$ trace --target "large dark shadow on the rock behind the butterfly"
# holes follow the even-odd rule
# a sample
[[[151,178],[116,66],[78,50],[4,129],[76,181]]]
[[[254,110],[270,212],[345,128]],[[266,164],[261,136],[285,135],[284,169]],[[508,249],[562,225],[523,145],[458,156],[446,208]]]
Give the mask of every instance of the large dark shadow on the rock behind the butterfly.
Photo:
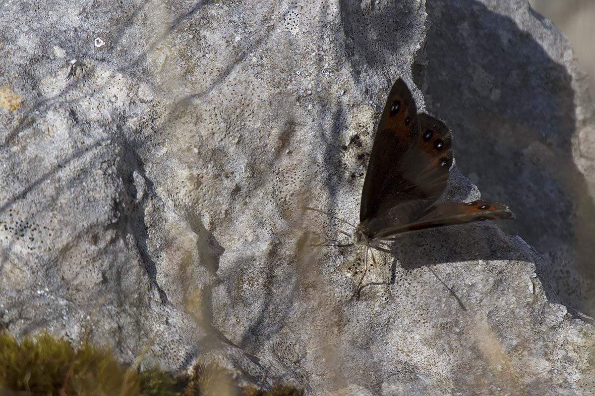
[[[474,0],[443,3],[428,2],[428,62],[417,81],[428,110],[453,130],[461,172],[516,214],[502,229],[546,256],[564,303],[592,314],[595,208],[573,161],[571,77],[510,18]]]

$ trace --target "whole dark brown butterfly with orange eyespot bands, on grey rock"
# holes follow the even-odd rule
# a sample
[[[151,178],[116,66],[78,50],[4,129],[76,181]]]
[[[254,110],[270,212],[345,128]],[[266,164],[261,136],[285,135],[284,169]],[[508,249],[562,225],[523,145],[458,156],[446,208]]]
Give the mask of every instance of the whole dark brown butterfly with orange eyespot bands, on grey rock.
[[[449,129],[439,119],[417,113],[411,91],[399,78],[374,137],[355,243],[377,248],[382,240],[416,230],[515,218],[499,202],[436,203],[446,188],[452,163]]]

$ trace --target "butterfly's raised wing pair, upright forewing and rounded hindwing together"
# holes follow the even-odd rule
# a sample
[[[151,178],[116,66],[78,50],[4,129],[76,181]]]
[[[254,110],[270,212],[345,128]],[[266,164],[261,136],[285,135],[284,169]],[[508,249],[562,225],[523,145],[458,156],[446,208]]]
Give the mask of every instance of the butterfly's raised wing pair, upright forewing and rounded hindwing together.
[[[360,221],[384,218],[397,206],[404,210],[402,222],[421,216],[446,188],[452,159],[449,129],[431,115],[417,115],[411,91],[399,78],[378,123],[364,180]],[[413,200],[427,202],[402,205]]]

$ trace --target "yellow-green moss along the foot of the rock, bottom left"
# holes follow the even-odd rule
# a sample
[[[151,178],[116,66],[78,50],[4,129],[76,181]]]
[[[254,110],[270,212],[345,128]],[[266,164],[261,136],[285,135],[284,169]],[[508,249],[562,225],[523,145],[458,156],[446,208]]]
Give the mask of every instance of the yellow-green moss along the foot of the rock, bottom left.
[[[121,396],[302,396],[292,387],[271,392],[239,388],[232,372],[215,365],[195,366],[192,374],[173,376],[156,368],[137,371],[120,365],[107,349],[42,334],[20,342],[0,331],[2,389],[43,395]]]

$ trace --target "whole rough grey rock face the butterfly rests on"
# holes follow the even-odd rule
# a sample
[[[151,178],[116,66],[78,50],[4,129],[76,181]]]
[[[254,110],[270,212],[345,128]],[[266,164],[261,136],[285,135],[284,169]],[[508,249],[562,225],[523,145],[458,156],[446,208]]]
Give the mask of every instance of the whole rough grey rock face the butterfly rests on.
[[[594,391],[573,309],[592,306],[593,109],[525,1],[83,3],[0,11],[9,331],[127,361],[155,336],[147,364],[215,359],[314,395]],[[405,237],[358,298],[363,249],[310,246],[343,225],[299,206],[356,221],[399,76],[520,237]],[[447,195],[479,192],[453,169]]]

